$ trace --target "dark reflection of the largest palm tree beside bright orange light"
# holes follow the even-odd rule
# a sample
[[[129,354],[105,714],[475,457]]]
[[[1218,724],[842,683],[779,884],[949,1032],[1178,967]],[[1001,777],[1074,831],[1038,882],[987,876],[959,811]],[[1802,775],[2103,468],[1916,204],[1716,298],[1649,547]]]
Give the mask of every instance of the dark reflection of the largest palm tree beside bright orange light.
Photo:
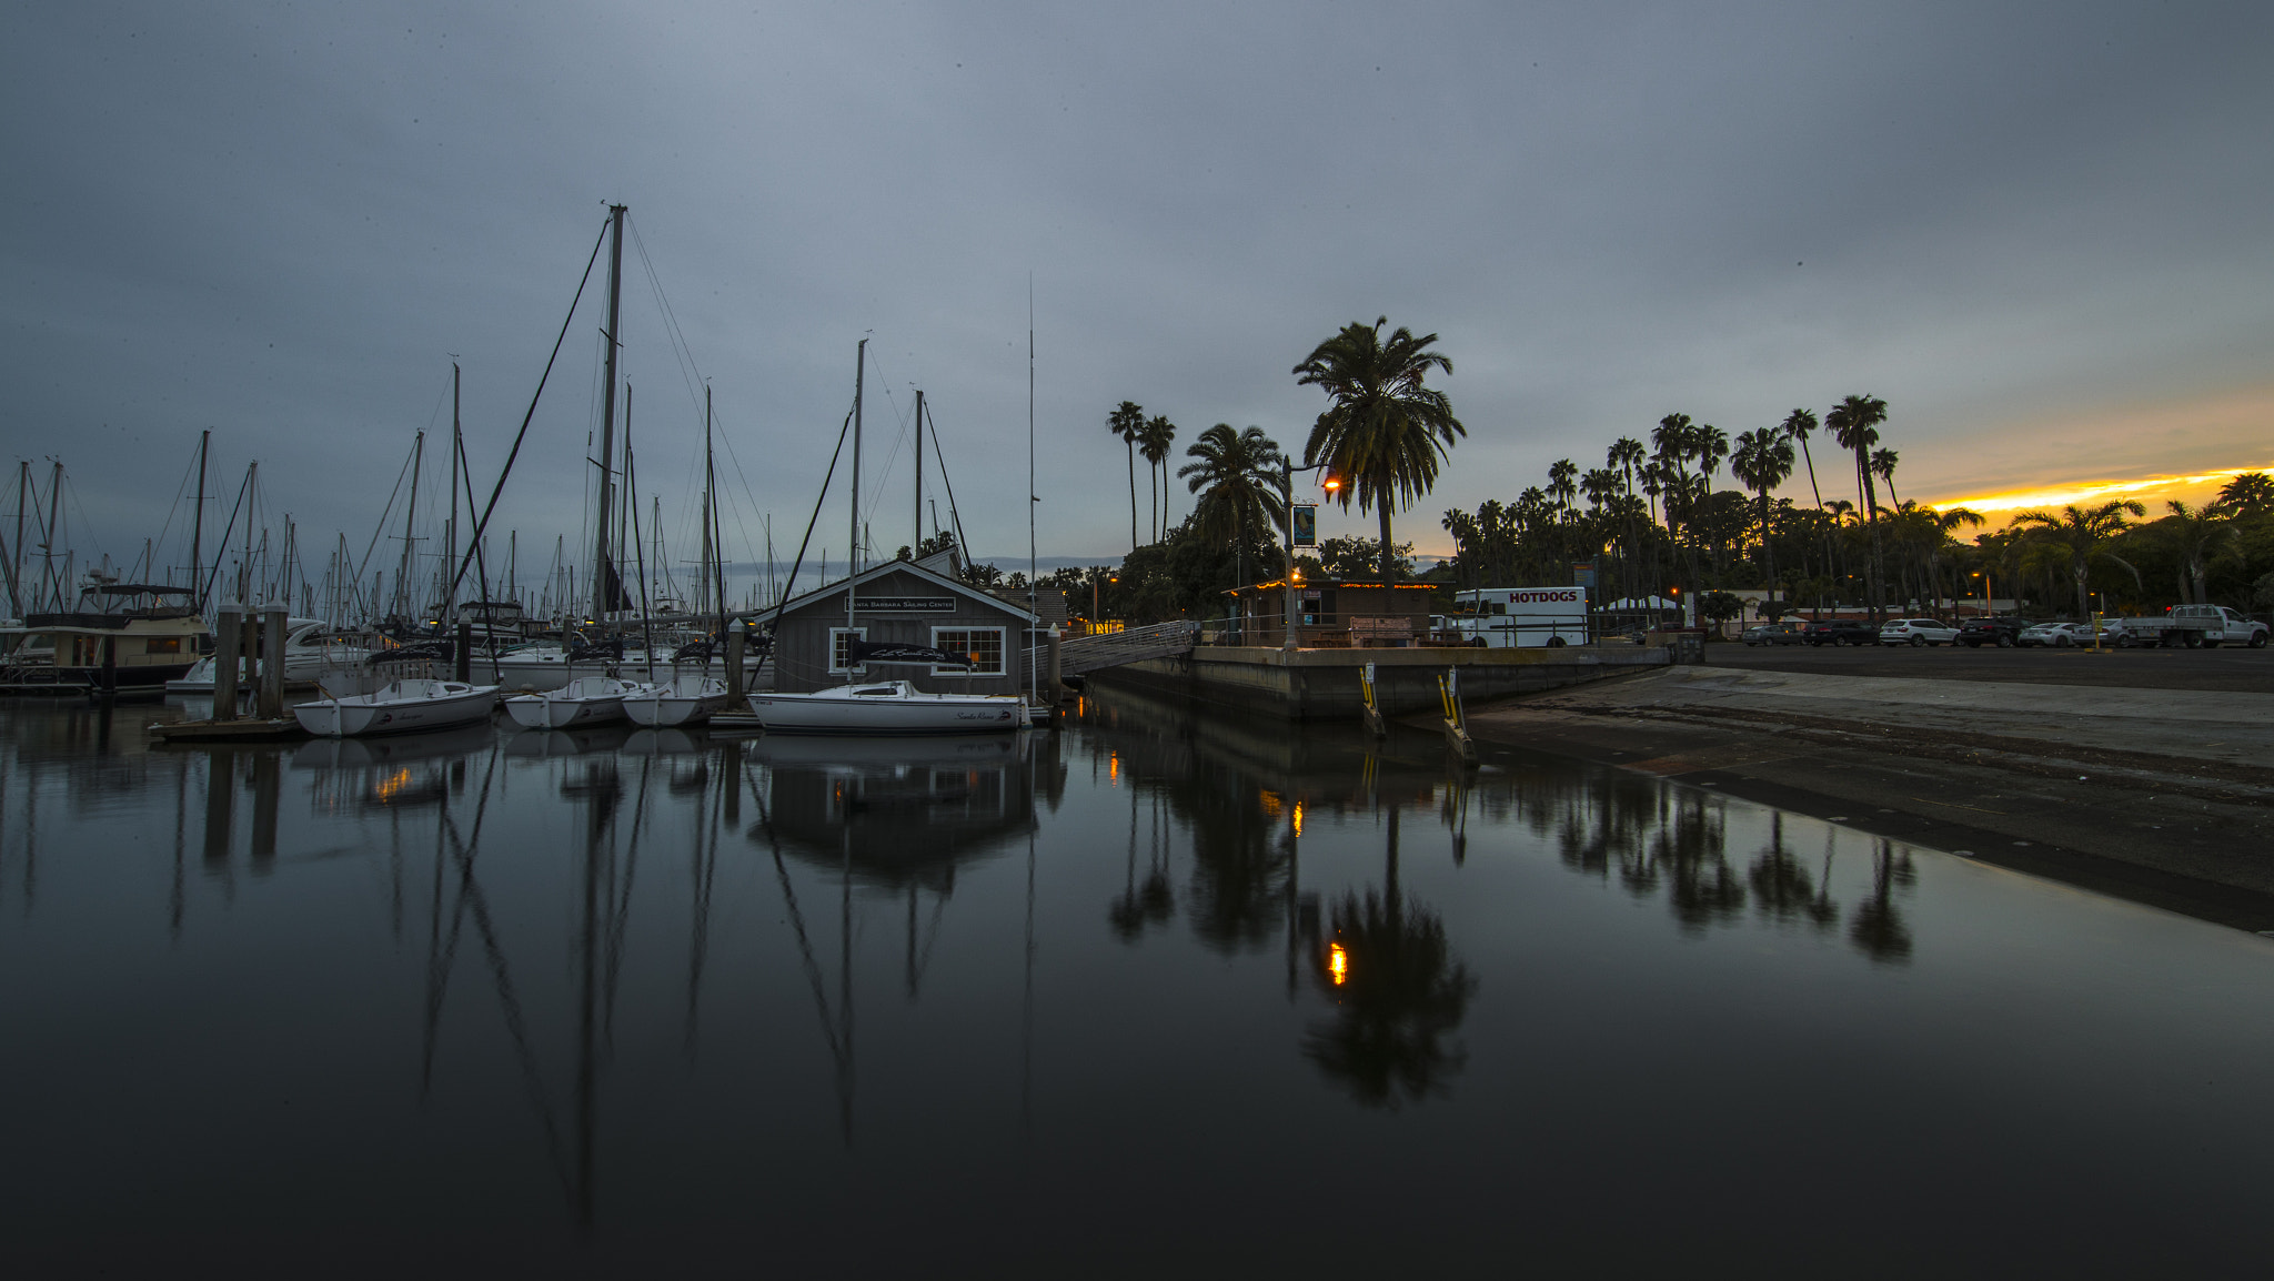
[[[1303,1056],[1371,1108],[1442,1094],[1469,1056],[1444,1038],[1460,1026],[1476,976],[1444,935],[1437,912],[1399,892],[1399,810],[1389,810],[1389,853],[1380,894],[1335,903],[1328,960],[1319,983],[1335,1019],[1303,1033]]]

